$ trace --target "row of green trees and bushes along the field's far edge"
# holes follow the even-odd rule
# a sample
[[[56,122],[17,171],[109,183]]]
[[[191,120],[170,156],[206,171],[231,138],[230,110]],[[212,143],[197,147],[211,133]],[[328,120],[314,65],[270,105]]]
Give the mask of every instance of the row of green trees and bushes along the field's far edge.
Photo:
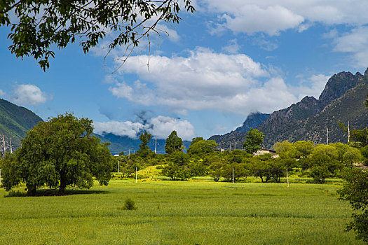
[[[364,159],[364,148],[356,148],[348,144],[334,143],[315,146],[312,141],[297,141],[294,144],[283,141],[275,144],[278,158],[271,154],[253,156],[263,141],[264,135],[258,130],[250,130],[243,144],[244,150],[216,151],[214,141],[194,138],[187,152],[183,152],[182,139],[173,131],[166,140],[166,155],[156,155],[146,146],[150,134],[141,134],[142,144],[137,153],[130,158],[120,156],[123,176],[135,172],[135,167],[146,165],[163,166],[163,175],[170,179],[188,179],[193,176],[212,176],[214,181],[224,178],[230,181],[232,169],[234,179],[245,179],[256,176],[262,182],[280,182],[286,169],[301,169],[302,173],[311,176],[315,182],[324,183],[327,177],[338,176],[344,167],[353,167],[353,163]],[[356,145],[356,144],[355,144]],[[123,169],[123,170],[122,170]],[[307,170],[308,169],[308,170]]]

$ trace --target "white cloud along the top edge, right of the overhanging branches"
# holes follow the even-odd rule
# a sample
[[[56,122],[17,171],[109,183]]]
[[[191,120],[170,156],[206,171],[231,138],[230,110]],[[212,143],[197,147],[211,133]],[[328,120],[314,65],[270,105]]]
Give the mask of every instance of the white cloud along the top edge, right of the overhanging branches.
[[[304,31],[313,22],[353,26],[368,23],[366,0],[203,0],[200,3],[203,10],[221,16],[212,27],[247,34],[264,32],[272,36],[295,28]]]

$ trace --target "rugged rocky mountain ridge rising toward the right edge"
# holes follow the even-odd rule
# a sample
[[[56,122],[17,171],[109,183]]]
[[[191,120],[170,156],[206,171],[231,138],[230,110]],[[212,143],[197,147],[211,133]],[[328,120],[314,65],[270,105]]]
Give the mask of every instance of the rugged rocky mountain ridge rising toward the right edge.
[[[265,134],[264,147],[272,148],[279,141],[313,140],[315,144],[325,143],[327,127],[329,142],[346,142],[345,132],[338,123],[360,127],[368,122],[368,110],[362,105],[368,93],[368,69],[361,73],[341,72],[327,81],[319,99],[304,97],[287,109],[274,111],[256,128]],[[229,148],[230,142],[241,147],[246,132],[230,132],[210,139],[220,147]],[[232,147],[233,147],[232,146]]]

